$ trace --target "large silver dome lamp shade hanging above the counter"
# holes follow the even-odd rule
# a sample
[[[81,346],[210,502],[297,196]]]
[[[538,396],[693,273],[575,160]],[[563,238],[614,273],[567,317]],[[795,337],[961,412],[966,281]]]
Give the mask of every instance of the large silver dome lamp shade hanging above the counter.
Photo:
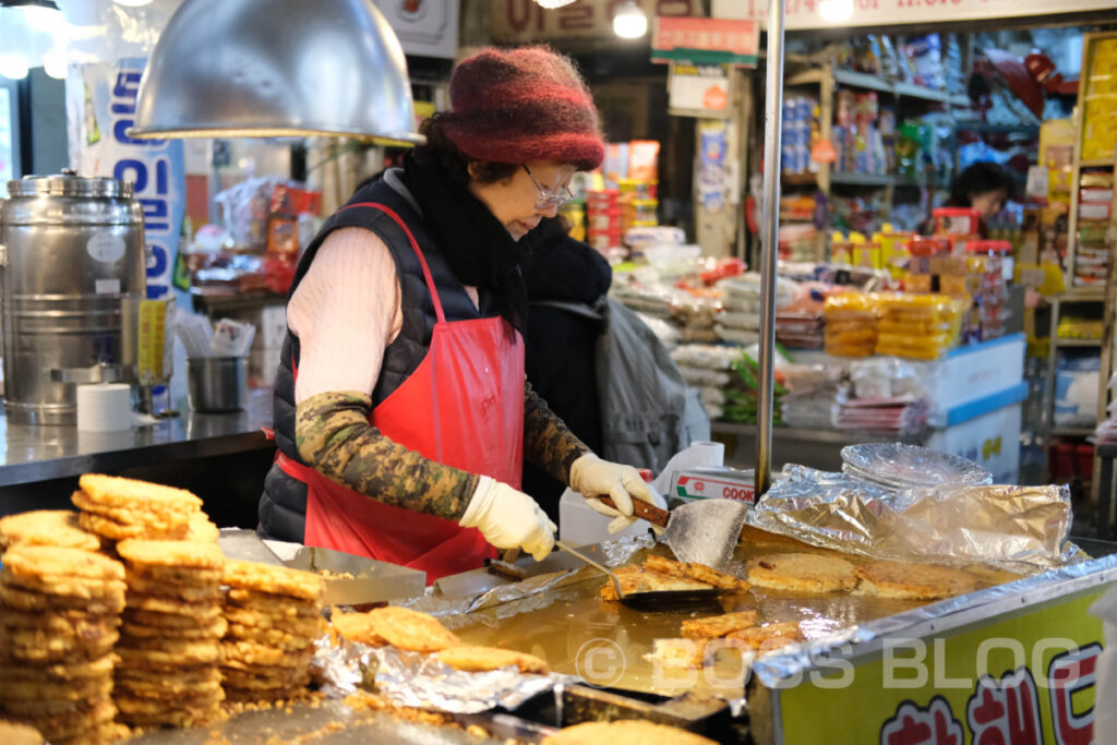
[[[407,60],[372,0],[185,0],[144,69],[137,139],[414,134]]]

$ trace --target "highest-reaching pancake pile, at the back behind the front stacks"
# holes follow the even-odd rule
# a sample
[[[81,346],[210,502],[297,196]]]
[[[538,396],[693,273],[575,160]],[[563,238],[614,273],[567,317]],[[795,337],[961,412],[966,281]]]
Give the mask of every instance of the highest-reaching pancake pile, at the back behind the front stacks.
[[[203,529],[202,500],[185,489],[118,476],[85,474],[70,497],[78,523],[109,541],[185,539]]]

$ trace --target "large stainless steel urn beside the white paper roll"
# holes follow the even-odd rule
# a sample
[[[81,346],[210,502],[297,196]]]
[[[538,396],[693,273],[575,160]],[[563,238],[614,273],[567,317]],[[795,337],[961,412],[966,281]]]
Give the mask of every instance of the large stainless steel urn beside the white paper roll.
[[[16,423],[73,424],[78,383],[135,381],[143,209],[132,184],[73,171],[9,181],[8,193],[4,410]]]

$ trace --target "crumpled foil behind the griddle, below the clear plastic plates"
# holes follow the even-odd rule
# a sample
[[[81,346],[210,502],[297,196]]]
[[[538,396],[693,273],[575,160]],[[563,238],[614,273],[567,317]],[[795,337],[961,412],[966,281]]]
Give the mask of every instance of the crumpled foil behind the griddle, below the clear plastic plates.
[[[862,556],[982,563],[1020,574],[1082,554],[1067,541],[1066,486],[937,486],[890,490],[849,474],[787,466],[746,522]]]

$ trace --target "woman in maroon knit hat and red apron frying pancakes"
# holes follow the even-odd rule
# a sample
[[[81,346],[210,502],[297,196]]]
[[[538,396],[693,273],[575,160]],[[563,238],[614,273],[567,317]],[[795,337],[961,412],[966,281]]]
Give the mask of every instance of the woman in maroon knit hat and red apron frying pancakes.
[[[497,548],[536,560],[555,525],[519,491],[522,458],[620,528],[651,500],[526,384],[519,241],[604,156],[592,97],[565,57],[486,48],[459,63],[427,143],[357,190],[304,254],[275,393],[279,448],[265,537],[427,572]],[[594,497],[608,495],[612,509]]]

